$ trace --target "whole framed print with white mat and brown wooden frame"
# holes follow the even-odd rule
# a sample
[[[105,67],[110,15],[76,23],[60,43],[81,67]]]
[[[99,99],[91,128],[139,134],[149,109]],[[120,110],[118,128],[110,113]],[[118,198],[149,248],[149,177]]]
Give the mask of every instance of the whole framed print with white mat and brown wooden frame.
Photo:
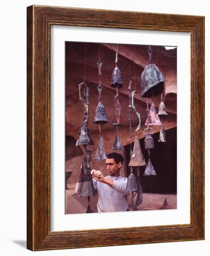
[[[28,249],[204,239],[203,31],[27,8]]]

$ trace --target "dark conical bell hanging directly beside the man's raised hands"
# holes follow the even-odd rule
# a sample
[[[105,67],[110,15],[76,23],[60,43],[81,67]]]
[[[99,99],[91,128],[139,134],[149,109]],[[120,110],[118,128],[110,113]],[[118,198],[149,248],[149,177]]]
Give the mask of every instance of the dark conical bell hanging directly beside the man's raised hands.
[[[82,187],[81,187],[80,196],[95,195],[95,191],[92,183],[91,169],[88,166],[88,163],[85,157],[82,163],[81,175],[82,175]]]

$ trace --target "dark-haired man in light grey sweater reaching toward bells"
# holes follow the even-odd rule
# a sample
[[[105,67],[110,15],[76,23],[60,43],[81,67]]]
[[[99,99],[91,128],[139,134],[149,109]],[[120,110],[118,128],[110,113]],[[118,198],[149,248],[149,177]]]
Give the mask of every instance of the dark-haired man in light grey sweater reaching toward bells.
[[[101,171],[92,169],[92,182],[94,189],[98,192],[98,212],[117,212],[128,209],[126,190],[127,178],[119,175],[120,168],[124,162],[123,156],[118,153],[111,153],[106,158],[108,176]],[[80,189],[77,183],[75,193]]]

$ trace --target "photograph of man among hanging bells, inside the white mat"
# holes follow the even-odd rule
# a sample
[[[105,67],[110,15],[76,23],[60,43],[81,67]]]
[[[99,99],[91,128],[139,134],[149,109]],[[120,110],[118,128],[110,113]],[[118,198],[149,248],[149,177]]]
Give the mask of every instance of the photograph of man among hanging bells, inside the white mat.
[[[66,41],[65,135],[66,214],[177,209],[177,46]]]

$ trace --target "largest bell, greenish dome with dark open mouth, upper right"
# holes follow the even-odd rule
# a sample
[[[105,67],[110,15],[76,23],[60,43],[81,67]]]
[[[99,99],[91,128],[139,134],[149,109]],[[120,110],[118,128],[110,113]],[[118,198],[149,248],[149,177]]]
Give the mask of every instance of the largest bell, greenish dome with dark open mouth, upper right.
[[[141,96],[151,98],[164,91],[164,77],[155,64],[148,64],[141,74]]]

